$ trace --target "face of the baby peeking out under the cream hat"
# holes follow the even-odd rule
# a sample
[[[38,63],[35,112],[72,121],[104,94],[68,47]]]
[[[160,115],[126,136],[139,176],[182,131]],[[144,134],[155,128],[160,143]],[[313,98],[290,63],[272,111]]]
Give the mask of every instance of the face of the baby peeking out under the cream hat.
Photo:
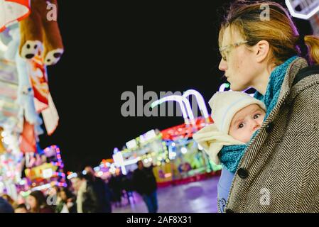
[[[248,143],[252,134],[264,121],[265,111],[259,105],[252,104],[238,111],[232,118],[229,135],[243,143]]]

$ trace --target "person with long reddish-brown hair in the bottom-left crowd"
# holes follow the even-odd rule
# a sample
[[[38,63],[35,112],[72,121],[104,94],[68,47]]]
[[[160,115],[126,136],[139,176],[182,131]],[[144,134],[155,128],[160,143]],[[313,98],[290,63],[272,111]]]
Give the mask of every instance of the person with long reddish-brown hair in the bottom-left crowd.
[[[31,192],[27,201],[31,213],[54,213],[50,206],[46,204],[45,196],[41,191]]]

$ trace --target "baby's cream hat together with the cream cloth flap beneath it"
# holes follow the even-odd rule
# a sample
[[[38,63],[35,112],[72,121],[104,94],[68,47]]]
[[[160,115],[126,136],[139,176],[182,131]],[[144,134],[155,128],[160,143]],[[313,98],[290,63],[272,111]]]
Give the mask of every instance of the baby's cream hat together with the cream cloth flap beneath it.
[[[234,115],[246,106],[257,104],[266,111],[262,101],[244,92],[217,92],[209,101],[214,123],[205,126],[193,135],[194,140],[204,148],[212,162],[220,164],[218,153],[225,145],[244,145],[228,135]]]

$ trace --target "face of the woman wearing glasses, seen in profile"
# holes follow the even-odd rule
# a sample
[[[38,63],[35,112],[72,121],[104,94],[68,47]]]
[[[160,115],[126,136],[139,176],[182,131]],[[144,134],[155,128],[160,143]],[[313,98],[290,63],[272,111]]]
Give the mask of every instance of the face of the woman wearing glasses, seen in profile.
[[[246,40],[234,29],[230,33],[230,29],[227,27],[220,48],[242,41]],[[227,48],[222,54],[225,55],[226,61],[223,59],[220,61],[219,69],[225,72],[225,77],[230,83],[230,89],[240,92],[251,87],[256,75],[254,51],[249,51],[247,46],[242,44]]]

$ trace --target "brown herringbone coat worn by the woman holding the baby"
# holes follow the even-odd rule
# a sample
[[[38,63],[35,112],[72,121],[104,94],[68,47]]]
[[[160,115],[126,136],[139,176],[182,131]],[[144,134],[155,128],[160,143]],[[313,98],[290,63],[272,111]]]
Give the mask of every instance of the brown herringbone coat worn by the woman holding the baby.
[[[229,192],[229,212],[319,212],[319,74],[293,79],[291,63],[278,102],[249,143]]]

